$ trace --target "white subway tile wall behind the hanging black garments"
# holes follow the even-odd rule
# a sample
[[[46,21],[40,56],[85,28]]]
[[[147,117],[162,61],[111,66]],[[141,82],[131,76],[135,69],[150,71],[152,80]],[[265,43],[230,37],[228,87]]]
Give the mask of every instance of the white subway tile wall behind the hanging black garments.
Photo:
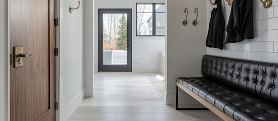
[[[222,0],[222,8],[227,24],[231,6]],[[213,6],[207,1],[207,27],[212,9]],[[259,0],[254,0],[253,14],[254,39],[225,44],[222,51],[207,47],[207,54],[278,64],[278,1],[272,1],[271,8],[265,9]]]

